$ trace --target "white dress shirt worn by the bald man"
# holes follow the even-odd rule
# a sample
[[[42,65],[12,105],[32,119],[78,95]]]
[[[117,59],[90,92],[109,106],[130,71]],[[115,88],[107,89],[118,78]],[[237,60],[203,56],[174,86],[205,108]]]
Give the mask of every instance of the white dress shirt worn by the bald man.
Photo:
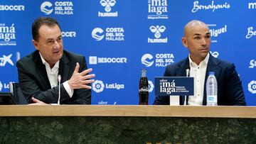
[[[190,77],[194,77],[194,96],[188,96],[188,105],[203,105],[203,87],[206,78],[206,69],[209,60],[209,53],[205,60],[196,65],[188,55],[189,65],[191,70],[189,72]]]

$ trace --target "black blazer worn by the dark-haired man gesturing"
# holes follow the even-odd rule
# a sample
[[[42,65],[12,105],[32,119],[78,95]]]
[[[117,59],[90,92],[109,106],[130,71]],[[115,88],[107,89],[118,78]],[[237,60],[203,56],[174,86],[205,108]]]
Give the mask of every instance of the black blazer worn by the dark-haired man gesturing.
[[[72,76],[76,62],[80,64],[79,72],[87,69],[84,56],[63,51],[58,72],[61,75],[60,104],[91,104],[90,89],[74,89],[74,94],[70,98],[62,84]],[[47,104],[57,103],[58,86],[51,89],[46,66],[43,65],[38,50],[18,60],[16,67],[18,68],[18,81],[28,103],[32,103],[32,97]]]

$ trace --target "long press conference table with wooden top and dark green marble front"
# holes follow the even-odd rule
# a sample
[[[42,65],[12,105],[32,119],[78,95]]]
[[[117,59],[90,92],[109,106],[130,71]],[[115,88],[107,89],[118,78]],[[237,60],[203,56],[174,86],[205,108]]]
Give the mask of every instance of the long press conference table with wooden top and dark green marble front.
[[[0,106],[0,143],[256,143],[255,106]]]

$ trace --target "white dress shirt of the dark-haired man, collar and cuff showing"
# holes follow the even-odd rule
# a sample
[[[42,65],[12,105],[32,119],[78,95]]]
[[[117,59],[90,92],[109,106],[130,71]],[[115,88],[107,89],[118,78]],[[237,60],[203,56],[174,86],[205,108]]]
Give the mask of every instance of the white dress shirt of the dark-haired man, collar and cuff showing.
[[[58,68],[60,65],[60,60],[58,60],[58,62],[55,63],[55,65],[53,66],[52,69],[50,69],[50,65],[48,64],[48,62],[46,62],[46,60],[43,59],[41,53],[39,52],[41,60],[43,62],[43,65],[46,66],[46,72],[47,72],[47,77],[49,79],[50,82],[50,87],[53,89],[53,87],[58,86]],[[73,96],[74,90],[70,88],[68,81],[63,82],[63,86],[66,90],[66,92],[68,92],[68,95],[70,97]]]

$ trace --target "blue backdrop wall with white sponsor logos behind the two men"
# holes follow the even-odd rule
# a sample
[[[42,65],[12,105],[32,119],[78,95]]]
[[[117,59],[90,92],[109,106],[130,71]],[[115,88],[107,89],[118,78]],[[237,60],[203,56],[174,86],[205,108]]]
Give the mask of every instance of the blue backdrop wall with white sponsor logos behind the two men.
[[[256,106],[256,1],[3,1],[0,4],[0,92],[18,82],[16,62],[35,48],[31,23],[56,18],[63,45],[85,55],[93,68],[92,104],[138,104],[139,78],[146,69],[149,104],[154,77],[183,60],[183,27],[192,19],[210,28],[210,54],[233,62],[248,105]],[[33,14],[31,14],[33,13]]]

